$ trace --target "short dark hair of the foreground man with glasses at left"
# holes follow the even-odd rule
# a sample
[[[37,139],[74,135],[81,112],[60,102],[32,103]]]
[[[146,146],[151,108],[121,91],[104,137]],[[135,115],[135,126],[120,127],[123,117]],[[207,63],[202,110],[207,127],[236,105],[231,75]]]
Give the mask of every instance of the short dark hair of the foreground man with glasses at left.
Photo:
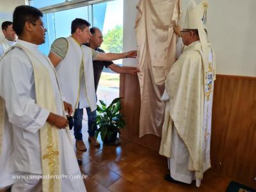
[[[13,12],[13,30],[17,35],[21,35],[25,22],[36,22],[43,13],[33,6],[17,6]]]

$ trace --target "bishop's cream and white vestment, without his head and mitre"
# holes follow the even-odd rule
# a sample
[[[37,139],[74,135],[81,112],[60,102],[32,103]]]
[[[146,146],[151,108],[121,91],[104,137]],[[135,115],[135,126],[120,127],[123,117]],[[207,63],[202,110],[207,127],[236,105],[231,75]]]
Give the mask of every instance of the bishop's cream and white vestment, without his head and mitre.
[[[168,157],[173,179],[200,186],[205,170],[211,167],[211,111],[215,80],[215,57],[208,45],[204,61],[200,42],[184,48],[168,74],[161,147]]]

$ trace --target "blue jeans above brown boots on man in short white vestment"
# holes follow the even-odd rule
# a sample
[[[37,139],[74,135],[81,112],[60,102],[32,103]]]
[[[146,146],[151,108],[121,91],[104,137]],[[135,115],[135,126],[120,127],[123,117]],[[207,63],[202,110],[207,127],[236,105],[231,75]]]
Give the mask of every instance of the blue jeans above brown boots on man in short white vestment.
[[[91,112],[90,108],[86,108],[88,115],[88,134],[89,136],[95,136],[95,131],[97,130],[96,122],[96,110]],[[83,121],[83,109],[76,109],[74,114],[74,136],[76,140],[83,140],[82,134],[82,121]]]

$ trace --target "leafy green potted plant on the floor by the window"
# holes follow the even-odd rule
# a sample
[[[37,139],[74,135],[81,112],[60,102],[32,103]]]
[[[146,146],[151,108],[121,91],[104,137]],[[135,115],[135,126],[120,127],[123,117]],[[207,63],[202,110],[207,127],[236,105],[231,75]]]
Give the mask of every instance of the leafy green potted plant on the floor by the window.
[[[120,143],[119,138],[117,138],[117,133],[121,134],[120,128],[125,126],[121,109],[121,98],[118,97],[114,99],[109,106],[99,100],[100,105],[97,105],[97,120],[98,129],[95,132],[95,138],[99,136],[104,144],[106,145],[116,145]]]

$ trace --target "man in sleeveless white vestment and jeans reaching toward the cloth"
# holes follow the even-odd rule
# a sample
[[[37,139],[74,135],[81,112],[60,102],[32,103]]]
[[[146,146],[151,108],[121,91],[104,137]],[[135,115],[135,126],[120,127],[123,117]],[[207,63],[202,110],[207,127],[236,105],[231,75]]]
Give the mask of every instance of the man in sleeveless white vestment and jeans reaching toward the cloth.
[[[71,36],[58,38],[51,45],[49,58],[60,79],[60,88],[67,102],[74,109],[74,136],[78,150],[86,150],[81,134],[83,108],[96,109],[96,95],[93,76],[93,60],[112,61],[122,58],[136,58],[136,51],[123,53],[98,52],[86,45],[90,40],[90,23],[84,19],[74,19]],[[89,141],[99,145],[93,135]]]

